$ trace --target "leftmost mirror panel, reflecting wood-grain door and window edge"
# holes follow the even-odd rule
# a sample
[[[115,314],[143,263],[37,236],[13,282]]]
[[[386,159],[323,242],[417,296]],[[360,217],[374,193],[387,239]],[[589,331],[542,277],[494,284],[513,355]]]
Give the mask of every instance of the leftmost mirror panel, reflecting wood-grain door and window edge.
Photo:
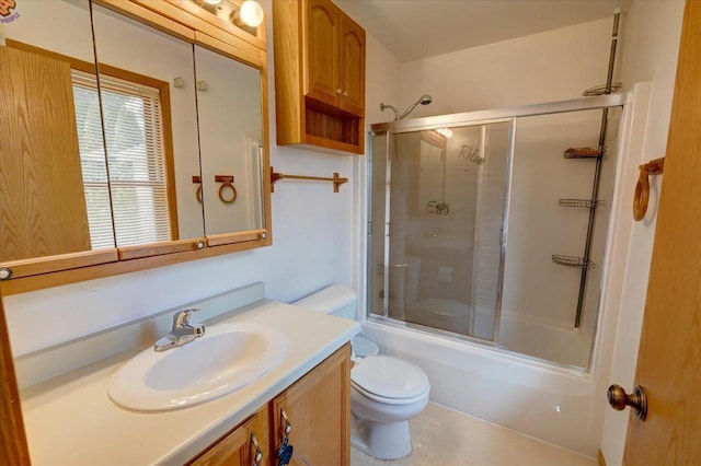
[[[0,261],[114,248],[88,1],[18,2],[0,44]]]

